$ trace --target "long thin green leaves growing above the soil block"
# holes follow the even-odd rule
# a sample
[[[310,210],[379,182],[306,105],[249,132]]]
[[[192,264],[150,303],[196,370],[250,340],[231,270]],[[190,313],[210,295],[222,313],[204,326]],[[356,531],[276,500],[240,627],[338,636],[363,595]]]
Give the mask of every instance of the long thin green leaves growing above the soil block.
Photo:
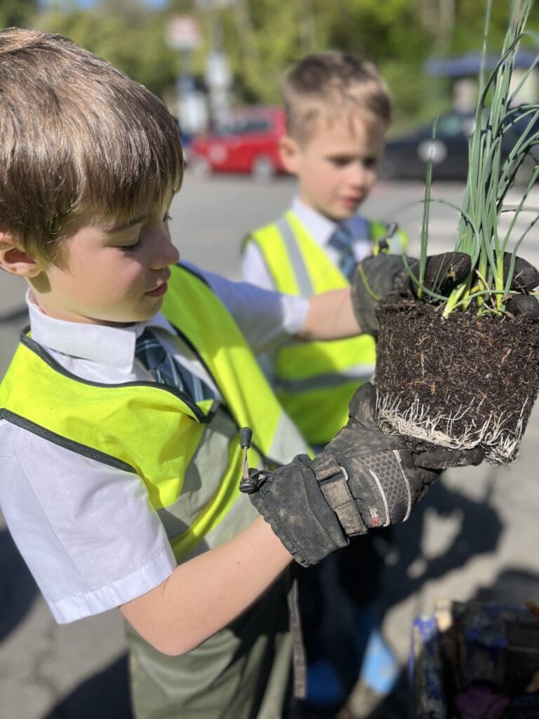
[[[525,206],[526,199],[539,176],[537,160],[531,154],[534,145],[539,154],[539,104],[515,106],[515,98],[530,73],[538,65],[539,57],[523,76],[516,88],[511,88],[515,57],[520,40],[525,35],[525,23],[528,19],[533,0],[517,0],[513,6],[510,25],[507,29],[502,55],[496,68],[484,79],[484,66],[487,58],[487,35],[492,0],[487,3],[485,32],[482,50],[482,70],[479,77],[479,99],[476,107],[474,132],[469,139],[469,168],[464,199],[460,209],[461,219],[457,232],[455,250],[467,252],[471,256],[471,273],[459,285],[451,296],[444,298],[425,288],[423,279],[428,246],[428,223],[432,184],[432,165],[429,163],[425,180],[425,198],[423,226],[420,247],[420,273],[418,296],[426,301],[443,303],[443,316],[456,309],[484,313],[501,314],[505,310],[505,301],[514,293],[510,290],[513,279],[517,250],[530,229],[537,223],[539,213],[533,211],[533,219],[525,232],[512,245],[509,273],[504,277],[503,261],[509,252],[509,243],[515,234],[517,218],[522,212],[530,211]],[[515,134],[518,124],[519,134]],[[436,133],[436,127],[433,134]],[[512,135],[517,142],[510,154],[503,157],[502,142]],[[535,165],[527,184],[521,187],[522,196],[517,206],[508,210],[504,207],[505,198],[515,185],[517,175],[524,169],[525,162],[533,160]],[[527,166],[526,165],[526,166]],[[512,219],[505,234],[500,235],[499,219],[502,212],[510,211]]]

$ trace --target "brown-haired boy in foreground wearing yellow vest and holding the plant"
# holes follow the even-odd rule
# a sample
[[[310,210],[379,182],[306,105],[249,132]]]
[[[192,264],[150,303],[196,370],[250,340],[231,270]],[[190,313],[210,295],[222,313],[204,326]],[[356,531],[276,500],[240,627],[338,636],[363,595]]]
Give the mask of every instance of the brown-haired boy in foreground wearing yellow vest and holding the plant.
[[[59,623],[120,608],[137,719],[285,716],[292,560],[402,521],[481,453],[413,457],[366,385],[326,452],[292,459],[253,348],[361,331],[349,292],[178,264],[175,120],[70,40],[0,32],[0,103],[0,267],[31,328],[0,385],[9,530]]]

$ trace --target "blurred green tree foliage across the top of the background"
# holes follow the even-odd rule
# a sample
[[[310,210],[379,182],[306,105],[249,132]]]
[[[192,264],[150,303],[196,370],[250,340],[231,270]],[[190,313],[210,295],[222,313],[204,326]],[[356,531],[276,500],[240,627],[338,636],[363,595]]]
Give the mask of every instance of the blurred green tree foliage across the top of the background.
[[[190,14],[202,35],[192,58],[196,73],[203,78],[208,52],[224,49],[238,103],[280,102],[282,78],[295,60],[338,47],[379,65],[401,121],[432,116],[449,102],[448,83],[425,78],[423,64],[432,55],[479,50],[486,7],[485,0],[169,0],[155,9],[143,0],[96,0],[80,9],[63,0],[60,11],[61,1],[40,15],[39,27],[73,38],[161,96],[180,70],[165,23]],[[2,0],[9,17],[29,6],[34,1]],[[509,14],[510,0],[494,3],[490,47],[501,47]],[[538,6],[528,27],[539,29]]]

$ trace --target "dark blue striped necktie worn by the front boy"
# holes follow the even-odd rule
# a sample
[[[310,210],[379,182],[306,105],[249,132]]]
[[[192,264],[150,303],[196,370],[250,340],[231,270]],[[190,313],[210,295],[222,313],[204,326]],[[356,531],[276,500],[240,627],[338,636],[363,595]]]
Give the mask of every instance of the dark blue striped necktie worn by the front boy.
[[[177,362],[150,329],[144,329],[135,346],[135,357],[142,362],[157,383],[188,395],[195,402],[215,399],[216,394],[199,377]]]

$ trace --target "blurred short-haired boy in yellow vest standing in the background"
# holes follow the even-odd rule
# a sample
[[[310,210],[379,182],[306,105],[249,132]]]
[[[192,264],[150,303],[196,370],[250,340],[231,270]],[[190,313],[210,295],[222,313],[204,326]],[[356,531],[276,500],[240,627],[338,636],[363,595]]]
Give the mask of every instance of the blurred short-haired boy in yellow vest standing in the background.
[[[346,52],[307,55],[284,87],[285,169],[298,195],[277,222],[244,242],[242,275],[259,287],[313,296],[349,285],[355,265],[378,251],[387,225],[357,214],[377,180],[391,101],[372,63]],[[400,252],[397,233],[390,249]],[[288,343],[272,358],[277,395],[315,447],[346,421],[357,386],[374,371],[374,341],[361,336],[320,344]]]

